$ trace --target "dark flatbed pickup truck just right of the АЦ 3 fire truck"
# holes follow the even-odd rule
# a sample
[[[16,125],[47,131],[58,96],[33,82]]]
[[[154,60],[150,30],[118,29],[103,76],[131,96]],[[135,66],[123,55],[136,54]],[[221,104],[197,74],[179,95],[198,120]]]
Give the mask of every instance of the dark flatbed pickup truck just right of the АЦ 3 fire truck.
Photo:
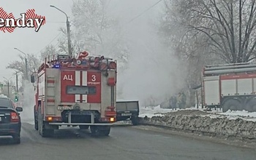
[[[138,125],[139,101],[116,102],[116,121],[131,120],[133,125]]]

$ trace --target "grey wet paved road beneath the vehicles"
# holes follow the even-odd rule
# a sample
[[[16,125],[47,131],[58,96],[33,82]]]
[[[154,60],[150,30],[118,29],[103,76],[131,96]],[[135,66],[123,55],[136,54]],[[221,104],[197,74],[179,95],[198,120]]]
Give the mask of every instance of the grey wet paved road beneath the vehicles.
[[[230,145],[153,132],[150,127],[113,127],[110,137],[91,137],[89,131],[62,129],[42,138],[23,123],[20,145],[0,139],[0,160],[131,160],[131,159],[256,159],[255,151]]]

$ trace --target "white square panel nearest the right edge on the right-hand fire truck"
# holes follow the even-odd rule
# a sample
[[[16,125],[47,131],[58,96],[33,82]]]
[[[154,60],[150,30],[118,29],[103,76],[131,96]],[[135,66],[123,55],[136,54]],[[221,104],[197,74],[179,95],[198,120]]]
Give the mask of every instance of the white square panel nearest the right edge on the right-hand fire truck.
[[[252,79],[238,79],[237,85],[239,95],[252,94]]]

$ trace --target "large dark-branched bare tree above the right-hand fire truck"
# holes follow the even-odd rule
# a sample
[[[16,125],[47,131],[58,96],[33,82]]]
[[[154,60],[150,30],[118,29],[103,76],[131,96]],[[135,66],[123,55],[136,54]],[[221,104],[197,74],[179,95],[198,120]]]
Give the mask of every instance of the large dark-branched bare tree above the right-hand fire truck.
[[[184,0],[174,1],[178,20],[188,32],[203,33],[211,52],[226,63],[255,59],[255,0]]]

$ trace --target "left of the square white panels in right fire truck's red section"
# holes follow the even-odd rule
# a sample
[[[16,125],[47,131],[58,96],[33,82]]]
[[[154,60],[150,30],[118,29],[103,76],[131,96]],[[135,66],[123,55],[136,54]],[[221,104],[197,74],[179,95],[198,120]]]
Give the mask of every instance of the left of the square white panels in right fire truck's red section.
[[[236,79],[221,80],[222,95],[235,95],[236,94]]]

